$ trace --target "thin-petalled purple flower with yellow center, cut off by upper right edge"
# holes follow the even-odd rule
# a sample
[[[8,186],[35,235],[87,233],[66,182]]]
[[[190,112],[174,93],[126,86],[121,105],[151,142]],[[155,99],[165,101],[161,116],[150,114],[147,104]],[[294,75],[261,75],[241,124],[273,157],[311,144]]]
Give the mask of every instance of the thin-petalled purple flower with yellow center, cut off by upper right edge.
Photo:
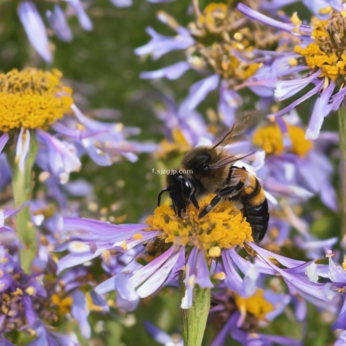
[[[287,73],[287,69],[281,70],[281,77],[290,78],[281,79],[278,74],[273,75],[272,73],[269,75],[270,80],[271,82],[273,79],[277,81],[275,98],[279,101],[296,95],[309,84],[312,84],[313,88],[285,108],[270,114],[269,117],[280,117],[311,96],[318,95],[305,135],[307,139],[318,138],[324,118],[331,111],[339,108],[346,93],[343,88],[345,70],[342,12],[333,12],[329,8],[327,21],[312,18],[312,25],[308,26],[302,24],[297,15],[291,18],[292,23],[283,23],[243,4],[239,4],[237,9],[254,20],[292,33],[293,43],[296,42],[294,38],[300,37],[299,45],[292,47],[290,51],[280,53],[275,59],[283,59],[292,67],[301,68],[303,73],[291,74]],[[267,54],[270,55],[271,52],[268,51]],[[276,69],[280,71],[277,64]],[[266,83],[267,79],[262,80],[262,83]]]

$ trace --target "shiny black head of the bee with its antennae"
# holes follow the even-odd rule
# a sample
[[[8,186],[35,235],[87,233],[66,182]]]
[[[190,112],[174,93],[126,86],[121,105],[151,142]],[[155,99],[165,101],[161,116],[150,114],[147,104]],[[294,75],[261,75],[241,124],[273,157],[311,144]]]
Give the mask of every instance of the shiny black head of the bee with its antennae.
[[[173,208],[179,217],[181,217],[182,211],[185,211],[186,206],[191,202],[197,209],[199,209],[195,197],[196,187],[193,184],[193,180],[187,175],[171,173],[167,176],[167,187],[158,195],[158,206],[160,206],[162,193],[166,191],[168,191],[169,197],[173,203]]]

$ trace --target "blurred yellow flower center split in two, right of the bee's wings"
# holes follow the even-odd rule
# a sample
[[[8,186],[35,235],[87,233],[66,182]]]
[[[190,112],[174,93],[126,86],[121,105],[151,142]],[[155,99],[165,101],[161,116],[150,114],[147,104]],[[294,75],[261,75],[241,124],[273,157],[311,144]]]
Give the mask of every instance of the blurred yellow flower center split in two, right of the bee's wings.
[[[286,124],[288,137],[291,141],[289,152],[301,157],[307,155],[312,149],[312,142],[305,139],[305,131],[299,127]],[[280,155],[284,151],[282,133],[277,123],[260,127],[253,134],[252,141],[255,146],[261,147],[267,154]]]

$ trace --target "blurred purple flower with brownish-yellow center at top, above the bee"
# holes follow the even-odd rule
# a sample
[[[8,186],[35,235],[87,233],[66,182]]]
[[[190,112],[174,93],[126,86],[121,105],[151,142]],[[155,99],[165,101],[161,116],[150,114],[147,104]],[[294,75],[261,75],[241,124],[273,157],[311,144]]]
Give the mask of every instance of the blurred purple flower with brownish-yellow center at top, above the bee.
[[[186,61],[156,71],[143,72],[141,77],[177,79],[189,69],[199,72],[203,78],[190,86],[179,113],[191,112],[210,92],[218,89],[220,119],[230,126],[236,110],[242,104],[235,86],[246,83],[250,77],[257,78],[256,73],[263,66],[263,61],[253,59],[253,47],[263,49],[275,45],[278,37],[268,30],[261,32],[258,26],[249,30],[251,23],[230,5],[211,3],[201,12],[197,4],[194,2],[196,19],[188,28],[160,11],[158,19],[177,35],[163,36],[150,27],[147,32],[152,36],[152,40],[135,50],[138,55],[150,54],[154,60],[170,51],[184,50]],[[253,91],[261,96],[263,94],[263,90]],[[273,89],[268,90],[268,93],[272,96]]]

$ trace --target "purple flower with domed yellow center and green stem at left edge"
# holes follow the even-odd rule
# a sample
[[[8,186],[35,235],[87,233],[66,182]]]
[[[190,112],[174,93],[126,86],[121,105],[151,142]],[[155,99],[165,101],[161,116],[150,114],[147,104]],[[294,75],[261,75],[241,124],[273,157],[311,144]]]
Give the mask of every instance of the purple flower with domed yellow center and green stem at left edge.
[[[156,148],[153,143],[126,139],[127,135],[137,134],[137,128],[85,117],[73,103],[72,90],[61,78],[60,71],[35,68],[0,75],[0,154],[5,150],[8,157],[13,157],[11,151],[16,148],[11,166],[17,209],[31,199],[31,171],[35,163],[42,169],[39,180],[48,185],[48,194],[66,212],[69,206],[60,185],[68,183],[71,172],[80,170],[81,155],[88,154],[94,162],[106,166],[121,157],[133,162],[136,153]],[[36,229],[30,218],[28,207],[16,216],[24,271],[30,271],[37,251]]]

